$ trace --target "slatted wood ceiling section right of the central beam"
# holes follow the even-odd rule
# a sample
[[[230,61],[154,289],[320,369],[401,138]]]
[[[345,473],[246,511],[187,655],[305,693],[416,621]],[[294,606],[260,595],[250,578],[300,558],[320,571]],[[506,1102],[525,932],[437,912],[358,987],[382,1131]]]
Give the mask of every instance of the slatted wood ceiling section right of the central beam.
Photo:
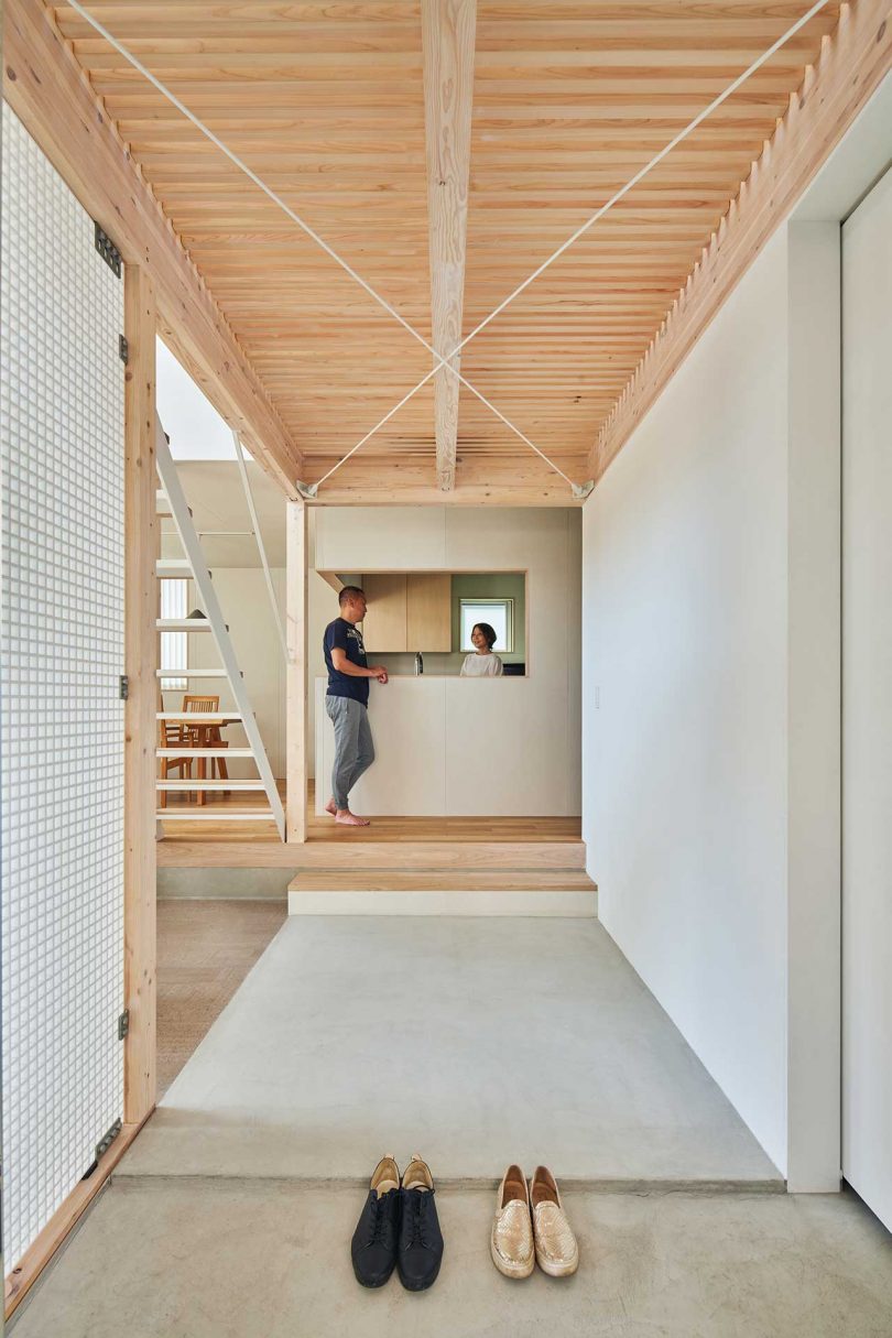
[[[480,0],[465,333],[806,8]],[[587,476],[592,425],[773,132],[834,8],[467,347],[465,376],[572,478]],[[459,421],[465,459],[504,443],[467,391]]]

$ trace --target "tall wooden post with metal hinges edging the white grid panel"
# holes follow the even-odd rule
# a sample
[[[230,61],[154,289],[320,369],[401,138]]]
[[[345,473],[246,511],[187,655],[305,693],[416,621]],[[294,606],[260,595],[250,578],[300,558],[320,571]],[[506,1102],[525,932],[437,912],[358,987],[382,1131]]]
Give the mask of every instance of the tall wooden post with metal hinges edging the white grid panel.
[[[158,522],[155,516],[155,296],[139,265],[124,269],[124,1124],[155,1105],[155,744]]]

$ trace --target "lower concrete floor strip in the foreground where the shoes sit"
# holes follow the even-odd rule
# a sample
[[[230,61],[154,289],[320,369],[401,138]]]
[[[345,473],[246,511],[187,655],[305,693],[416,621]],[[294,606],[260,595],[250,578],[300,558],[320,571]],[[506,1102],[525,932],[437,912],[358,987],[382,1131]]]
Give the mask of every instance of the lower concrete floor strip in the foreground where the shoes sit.
[[[530,1168],[528,1168],[530,1169]],[[353,1279],[361,1192],[115,1179],[15,1338],[889,1338],[892,1246],[855,1196],[564,1196],[579,1272],[510,1282],[493,1196],[444,1189],[435,1287]]]

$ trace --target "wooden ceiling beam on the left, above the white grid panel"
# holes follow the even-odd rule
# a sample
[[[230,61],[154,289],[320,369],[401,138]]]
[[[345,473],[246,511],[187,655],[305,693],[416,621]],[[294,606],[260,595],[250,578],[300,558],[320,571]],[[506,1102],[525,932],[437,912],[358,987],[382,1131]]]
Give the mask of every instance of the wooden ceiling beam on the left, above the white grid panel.
[[[296,498],[300,452],[40,0],[5,0],[3,91],[123,260],[151,274],[164,343],[258,463]]]

